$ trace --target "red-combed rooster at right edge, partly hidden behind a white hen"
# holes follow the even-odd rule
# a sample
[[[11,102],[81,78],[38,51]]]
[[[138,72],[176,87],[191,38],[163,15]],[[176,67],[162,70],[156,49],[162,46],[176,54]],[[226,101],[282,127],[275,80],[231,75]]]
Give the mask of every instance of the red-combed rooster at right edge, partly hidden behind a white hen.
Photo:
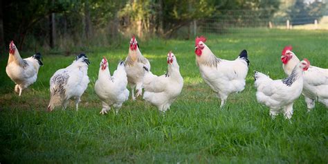
[[[286,75],[291,75],[293,67],[300,62],[291,50],[291,46],[286,46],[282,51],[282,69]],[[310,66],[307,71],[304,71],[302,94],[307,103],[308,111],[314,108],[316,100],[328,108],[328,69]]]

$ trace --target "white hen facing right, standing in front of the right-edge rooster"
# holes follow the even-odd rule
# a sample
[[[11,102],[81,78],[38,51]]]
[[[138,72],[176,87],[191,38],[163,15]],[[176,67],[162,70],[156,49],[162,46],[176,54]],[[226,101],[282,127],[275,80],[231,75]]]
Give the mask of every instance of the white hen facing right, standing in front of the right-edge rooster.
[[[283,112],[284,116],[290,119],[293,116],[293,102],[302,93],[303,72],[309,69],[309,66],[309,60],[302,60],[294,67],[291,75],[284,80],[272,80],[267,75],[255,71],[257,102],[269,107],[273,118]]]

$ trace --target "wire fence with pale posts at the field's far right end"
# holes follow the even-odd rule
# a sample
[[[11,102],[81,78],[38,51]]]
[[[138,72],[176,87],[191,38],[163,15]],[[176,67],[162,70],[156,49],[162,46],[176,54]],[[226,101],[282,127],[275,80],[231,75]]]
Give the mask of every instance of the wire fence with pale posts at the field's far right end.
[[[313,17],[310,15],[275,15],[271,10],[224,10],[222,15],[194,21],[194,33],[237,33],[247,28],[279,28],[328,30],[328,16]],[[256,33],[256,31],[255,31]]]

